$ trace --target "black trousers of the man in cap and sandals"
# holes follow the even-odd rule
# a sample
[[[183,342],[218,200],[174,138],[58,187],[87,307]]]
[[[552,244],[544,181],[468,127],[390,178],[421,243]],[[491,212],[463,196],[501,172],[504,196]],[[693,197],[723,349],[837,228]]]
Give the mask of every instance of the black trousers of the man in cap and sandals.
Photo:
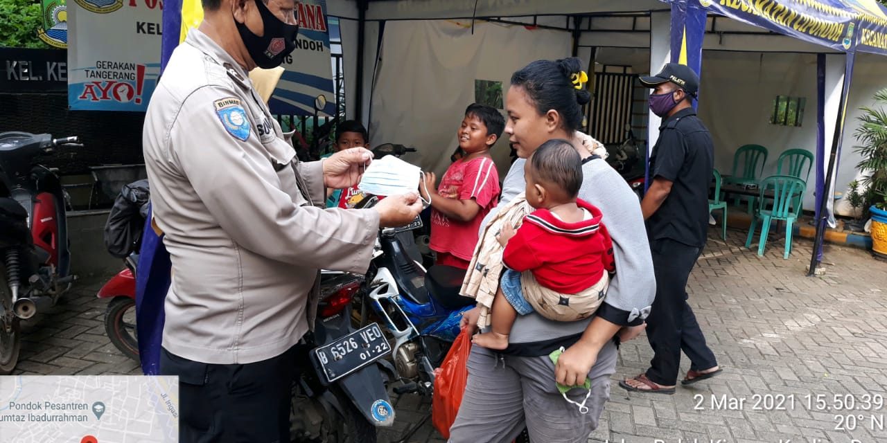
[[[659,385],[675,385],[681,350],[690,358],[690,369],[705,370],[718,365],[705,344],[693,309],[687,304],[687,277],[702,249],[669,238],[653,240],[650,249],[656,298],[647,318],[647,338],[654,353],[647,377]]]

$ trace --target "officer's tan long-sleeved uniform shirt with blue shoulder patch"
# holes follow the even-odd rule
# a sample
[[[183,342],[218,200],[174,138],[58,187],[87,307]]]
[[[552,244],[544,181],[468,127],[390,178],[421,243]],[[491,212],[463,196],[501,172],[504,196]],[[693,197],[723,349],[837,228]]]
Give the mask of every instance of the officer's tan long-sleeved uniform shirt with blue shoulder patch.
[[[313,323],[318,268],[366,271],[379,215],[322,209],[321,162],[294,158],[247,73],[197,29],[169,59],[143,143],[172,260],[170,353],[216,364],[282,354]]]

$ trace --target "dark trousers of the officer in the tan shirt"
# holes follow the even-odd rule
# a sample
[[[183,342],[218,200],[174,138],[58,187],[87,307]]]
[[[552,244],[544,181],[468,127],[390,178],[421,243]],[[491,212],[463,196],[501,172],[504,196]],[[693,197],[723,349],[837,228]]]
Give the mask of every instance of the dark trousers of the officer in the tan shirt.
[[[161,374],[179,377],[179,442],[288,443],[295,354],[208,364],[163,349]]]

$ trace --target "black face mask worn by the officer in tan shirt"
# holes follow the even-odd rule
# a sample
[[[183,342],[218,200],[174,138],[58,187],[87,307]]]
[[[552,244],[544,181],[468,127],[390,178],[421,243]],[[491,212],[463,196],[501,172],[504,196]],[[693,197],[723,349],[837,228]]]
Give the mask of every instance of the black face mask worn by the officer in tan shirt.
[[[260,37],[253,34],[246,24],[237,20],[234,20],[234,24],[237,25],[240,38],[256,66],[263,69],[280,66],[283,59],[295,49],[295,36],[299,34],[299,27],[280,21],[262,0],[255,0],[255,5],[262,14],[264,35]]]

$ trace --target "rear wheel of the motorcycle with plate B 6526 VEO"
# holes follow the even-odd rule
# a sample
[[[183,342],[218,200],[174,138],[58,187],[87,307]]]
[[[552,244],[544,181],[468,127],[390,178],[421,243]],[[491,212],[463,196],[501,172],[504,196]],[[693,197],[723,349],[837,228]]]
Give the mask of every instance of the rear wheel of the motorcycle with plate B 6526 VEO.
[[[343,413],[326,408],[296,385],[290,408],[293,443],[376,443],[376,428],[344,395],[335,392]]]

